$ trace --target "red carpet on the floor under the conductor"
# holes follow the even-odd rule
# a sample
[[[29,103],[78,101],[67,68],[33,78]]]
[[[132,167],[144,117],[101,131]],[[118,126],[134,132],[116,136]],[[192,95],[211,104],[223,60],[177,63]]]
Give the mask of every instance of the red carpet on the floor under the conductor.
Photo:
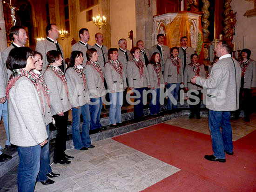
[[[256,191],[256,131],[234,142],[226,163],[204,159],[213,153],[209,135],[165,123],[113,139],[181,169],[145,192]]]

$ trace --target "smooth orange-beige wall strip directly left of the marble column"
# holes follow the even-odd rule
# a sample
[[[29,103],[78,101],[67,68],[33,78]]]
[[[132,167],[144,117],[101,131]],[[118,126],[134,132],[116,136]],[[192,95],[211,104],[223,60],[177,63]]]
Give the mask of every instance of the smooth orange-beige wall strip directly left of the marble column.
[[[111,47],[118,47],[118,40],[127,40],[127,49],[132,48],[128,32],[133,30],[136,39],[135,0],[110,0]],[[134,45],[136,42],[134,42]]]

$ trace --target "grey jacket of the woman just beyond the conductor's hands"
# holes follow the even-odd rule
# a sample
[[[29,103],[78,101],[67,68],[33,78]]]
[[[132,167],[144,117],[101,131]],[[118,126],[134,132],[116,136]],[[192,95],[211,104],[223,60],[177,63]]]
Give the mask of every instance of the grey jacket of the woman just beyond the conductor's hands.
[[[200,72],[199,76],[205,78],[205,70],[204,65],[202,64],[199,66]],[[193,66],[186,65],[185,71],[184,71],[184,87],[188,87],[189,90],[201,90],[202,86],[192,84],[190,80],[195,76],[195,73],[193,72]]]

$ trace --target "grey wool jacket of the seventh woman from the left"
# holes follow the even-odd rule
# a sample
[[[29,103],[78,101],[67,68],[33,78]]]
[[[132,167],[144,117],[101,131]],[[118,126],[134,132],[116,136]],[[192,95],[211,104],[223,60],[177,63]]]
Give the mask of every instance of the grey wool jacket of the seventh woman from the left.
[[[134,60],[128,60],[127,63],[127,79],[128,86],[134,88],[141,88],[150,86],[148,69],[144,62],[143,64],[143,77],[141,78],[141,74],[139,72],[139,68],[136,66]]]

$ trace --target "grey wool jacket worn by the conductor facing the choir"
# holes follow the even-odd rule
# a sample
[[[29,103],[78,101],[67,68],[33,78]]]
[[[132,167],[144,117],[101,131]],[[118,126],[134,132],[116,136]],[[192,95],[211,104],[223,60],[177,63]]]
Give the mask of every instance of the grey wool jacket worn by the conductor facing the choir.
[[[206,107],[213,111],[235,111],[239,108],[240,81],[240,66],[231,57],[216,62],[209,79],[196,78],[196,84],[207,88]]]

